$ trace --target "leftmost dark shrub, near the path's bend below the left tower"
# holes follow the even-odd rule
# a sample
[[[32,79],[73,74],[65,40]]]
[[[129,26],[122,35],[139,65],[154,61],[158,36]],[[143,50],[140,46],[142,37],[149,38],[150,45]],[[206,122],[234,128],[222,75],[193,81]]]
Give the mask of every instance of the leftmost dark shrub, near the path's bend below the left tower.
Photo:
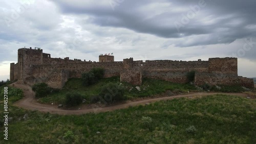
[[[36,83],[32,86],[32,90],[35,92],[35,97],[42,98],[51,93],[53,89],[46,83]]]

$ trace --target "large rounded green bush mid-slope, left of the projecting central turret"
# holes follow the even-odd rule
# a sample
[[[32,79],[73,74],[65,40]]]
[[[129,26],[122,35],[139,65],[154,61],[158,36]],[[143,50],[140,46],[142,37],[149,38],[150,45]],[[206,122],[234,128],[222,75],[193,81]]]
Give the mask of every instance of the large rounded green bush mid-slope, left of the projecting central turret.
[[[109,83],[102,87],[99,97],[103,98],[104,103],[111,104],[115,100],[124,100],[124,86],[117,83]],[[102,99],[101,99],[102,100]]]

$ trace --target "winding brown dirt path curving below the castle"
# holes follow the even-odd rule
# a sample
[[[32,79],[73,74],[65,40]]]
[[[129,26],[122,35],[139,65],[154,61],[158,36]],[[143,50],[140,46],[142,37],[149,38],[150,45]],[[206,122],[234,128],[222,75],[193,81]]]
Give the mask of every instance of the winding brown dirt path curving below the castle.
[[[98,113],[98,112],[106,112],[106,111],[112,111],[112,110],[116,110],[116,109],[128,108],[130,106],[145,105],[147,103],[152,103],[152,102],[161,101],[161,100],[170,100],[170,99],[185,98],[185,97],[197,98],[197,97],[202,97],[202,96],[206,96],[206,95],[214,95],[214,94],[229,94],[229,95],[238,95],[238,96],[243,96],[243,97],[246,96],[243,93],[199,92],[199,93],[190,93],[190,94],[185,94],[185,95],[176,95],[176,96],[172,96],[172,97],[147,99],[147,100],[136,101],[136,102],[127,101],[123,104],[105,106],[105,107],[99,107],[95,104],[83,105],[80,110],[65,110],[65,109],[57,108],[57,105],[47,105],[47,104],[38,103],[35,99],[35,93],[32,91],[32,88],[29,85],[14,83],[14,87],[23,89],[24,94],[25,94],[25,98],[16,102],[14,104],[14,106],[22,107],[22,108],[29,109],[29,110],[50,112],[50,113],[54,113],[54,114],[84,114],[84,113],[89,113],[89,112]]]

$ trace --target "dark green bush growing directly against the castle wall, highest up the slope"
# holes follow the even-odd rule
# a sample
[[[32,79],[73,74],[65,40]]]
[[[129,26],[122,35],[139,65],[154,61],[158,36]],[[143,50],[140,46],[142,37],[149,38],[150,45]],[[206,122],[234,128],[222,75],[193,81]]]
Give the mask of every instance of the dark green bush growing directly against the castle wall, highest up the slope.
[[[86,86],[92,85],[102,79],[104,76],[104,69],[101,67],[94,67],[87,73],[82,73],[82,81]]]

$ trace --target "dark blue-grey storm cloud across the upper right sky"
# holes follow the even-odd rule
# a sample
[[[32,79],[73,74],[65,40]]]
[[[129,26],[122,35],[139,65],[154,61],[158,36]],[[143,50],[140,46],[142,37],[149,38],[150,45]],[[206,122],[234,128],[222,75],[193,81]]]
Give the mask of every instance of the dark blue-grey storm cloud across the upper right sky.
[[[124,1],[118,4],[114,11],[108,3],[95,5],[73,1],[54,2],[63,13],[90,15],[90,22],[102,27],[126,28],[163,38],[208,35],[208,38],[203,40],[195,38],[193,42],[175,43],[181,47],[231,43],[236,39],[255,36],[255,29],[246,28],[256,23],[254,1]],[[115,0],[108,2],[118,3]],[[182,24],[183,16],[187,16],[187,12],[192,10],[190,6],[200,6],[199,3],[203,3],[204,7],[177,31],[174,22]],[[164,6],[167,4],[169,5]],[[162,8],[166,10],[162,11]],[[177,8],[181,10],[176,11]],[[157,13],[158,11],[160,12]],[[209,19],[204,20],[208,16]],[[213,21],[208,23],[210,20]]]

